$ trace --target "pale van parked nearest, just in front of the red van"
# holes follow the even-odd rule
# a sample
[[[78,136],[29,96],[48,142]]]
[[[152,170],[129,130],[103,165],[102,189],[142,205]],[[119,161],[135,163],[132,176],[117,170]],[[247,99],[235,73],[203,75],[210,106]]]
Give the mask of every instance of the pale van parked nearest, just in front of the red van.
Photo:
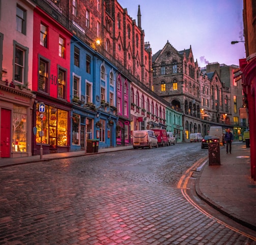
[[[158,147],[157,137],[152,130],[137,130],[132,132],[133,148]]]

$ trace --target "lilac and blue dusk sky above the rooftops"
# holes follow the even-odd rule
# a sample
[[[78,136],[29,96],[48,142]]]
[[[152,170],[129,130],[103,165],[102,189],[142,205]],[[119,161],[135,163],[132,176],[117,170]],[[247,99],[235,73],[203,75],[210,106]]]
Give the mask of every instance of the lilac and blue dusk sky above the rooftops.
[[[118,0],[136,20],[140,5],[141,28],[152,54],[167,40],[178,51],[189,49],[200,67],[218,62],[239,65],[246,58],[243,41],[243,0]]]

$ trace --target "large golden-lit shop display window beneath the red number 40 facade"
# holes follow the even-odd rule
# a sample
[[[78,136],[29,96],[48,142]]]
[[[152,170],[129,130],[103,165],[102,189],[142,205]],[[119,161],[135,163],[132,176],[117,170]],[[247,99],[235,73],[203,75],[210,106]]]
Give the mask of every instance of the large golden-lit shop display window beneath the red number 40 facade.
[[[37,104],[36,143],[41,143],[40,131],[43,131],[42,144],[50,145],[50,150],[57,146],[68,145],[68,112],[45,105],[45,113],[41,121],[39,104]]]

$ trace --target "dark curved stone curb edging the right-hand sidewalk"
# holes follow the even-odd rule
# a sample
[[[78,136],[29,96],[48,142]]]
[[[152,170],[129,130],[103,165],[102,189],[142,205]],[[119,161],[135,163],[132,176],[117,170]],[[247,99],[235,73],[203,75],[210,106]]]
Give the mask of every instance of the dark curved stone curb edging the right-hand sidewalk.
[[[205,166],[204,166],[205,167]],[[204,170],[204,167],[201,169],[201,171]],[[203,201],[205,201],[207,204],[209,204],[210,206],[212,206],[213,208],[215,208],[217,211],[219,211],[221,214],[229,217],[230,219],[236,221],[237,223],[251,229],[251,230],[256,230],[256,226],[250,224],[249,222],[245,221],[245,220],[241,220],[237,215],[235,214],[231,214],[229,213],[229,211],[225,208],[223,208],[222,206],[218,205],[217,203],[215,203],[213,200],[211,200],[210,198],[206,197],[200,190],[199,187],[199,182],[200,182],[200,177],[201,177],[201,173],[198,174],[196,180],[195,180],[195,192],[197,194],[198,197],[200,197]]]

